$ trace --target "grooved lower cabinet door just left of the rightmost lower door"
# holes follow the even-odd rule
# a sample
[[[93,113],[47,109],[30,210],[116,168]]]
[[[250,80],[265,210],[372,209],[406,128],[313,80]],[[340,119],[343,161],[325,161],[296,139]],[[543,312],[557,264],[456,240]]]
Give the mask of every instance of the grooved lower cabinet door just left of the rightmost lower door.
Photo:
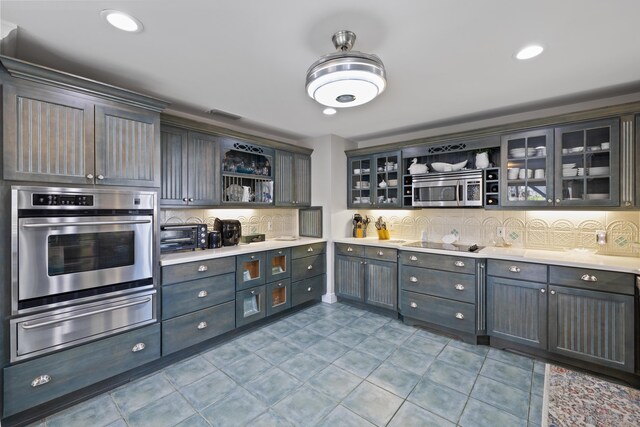
[[[547,348],[546,284],[489,277],[487,333],[531,347]]]

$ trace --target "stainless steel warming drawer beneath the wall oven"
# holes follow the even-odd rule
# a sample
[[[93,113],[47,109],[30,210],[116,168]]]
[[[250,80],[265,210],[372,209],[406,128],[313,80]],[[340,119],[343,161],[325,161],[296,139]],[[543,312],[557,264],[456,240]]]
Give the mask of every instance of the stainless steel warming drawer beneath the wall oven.
[[[46,354],[155,321],[156,291],[11,320],[11,361]]]

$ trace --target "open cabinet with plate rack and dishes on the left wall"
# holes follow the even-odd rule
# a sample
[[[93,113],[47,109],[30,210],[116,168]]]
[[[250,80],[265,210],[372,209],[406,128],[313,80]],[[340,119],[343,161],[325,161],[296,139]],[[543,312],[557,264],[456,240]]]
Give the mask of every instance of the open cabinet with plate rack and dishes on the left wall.
[[[225,138],[222,140],[222,204],[273,205],[275,150]]]

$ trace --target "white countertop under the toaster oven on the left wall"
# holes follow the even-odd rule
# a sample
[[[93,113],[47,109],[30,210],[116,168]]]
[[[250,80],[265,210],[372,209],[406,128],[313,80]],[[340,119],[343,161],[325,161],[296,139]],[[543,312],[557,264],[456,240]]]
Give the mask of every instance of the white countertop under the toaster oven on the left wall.
[[[252,252],[270,251],[272,249],[290,248],[293,246],[302,246],[320,242],[326,242],[326,239],[316,239],[312,237],[300,237],[297,240],[271,239],[265,242],[247,243],[237,246],[223,246],[218,249],[205,249],[190,252],[178,252],[174,254],[163,254],[160,256],[160,265],[165,266],[182,264],[191,261],[202,261],[205,259],[222,258]]]

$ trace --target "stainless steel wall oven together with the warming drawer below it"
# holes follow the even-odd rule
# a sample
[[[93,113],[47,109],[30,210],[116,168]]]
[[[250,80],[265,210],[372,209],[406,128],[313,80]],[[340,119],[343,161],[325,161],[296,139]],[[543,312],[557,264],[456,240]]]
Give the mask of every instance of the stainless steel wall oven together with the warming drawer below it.
[[[12,361],[156,320],[155,197],[12,187]]]

